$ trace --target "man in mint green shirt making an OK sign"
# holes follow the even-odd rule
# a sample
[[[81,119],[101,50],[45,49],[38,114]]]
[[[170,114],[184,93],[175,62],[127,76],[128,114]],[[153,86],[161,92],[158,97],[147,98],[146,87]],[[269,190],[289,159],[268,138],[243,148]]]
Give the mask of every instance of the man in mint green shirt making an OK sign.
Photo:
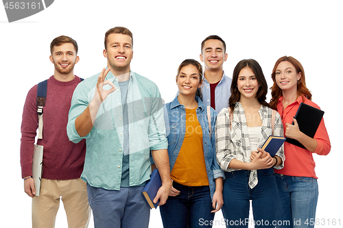
[[[81,178],[87,182],[95,227],[148,227],[150,207],[141,191],[150,179],[150,151],[162,179],[154,202],[171,190],[161,94],[152,81],[130,71],[132,33],[106,32],[107,69],[74,91],[69,140],[86,138]],[[133,217],[134,216],[134,217]]]

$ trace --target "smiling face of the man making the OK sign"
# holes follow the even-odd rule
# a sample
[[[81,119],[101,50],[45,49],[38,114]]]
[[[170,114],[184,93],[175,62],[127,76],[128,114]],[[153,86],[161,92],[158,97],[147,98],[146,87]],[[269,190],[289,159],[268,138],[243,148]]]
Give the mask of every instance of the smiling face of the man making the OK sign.
[[[133,58],[132,38],[123,34],[110,34],[104,57],[108,60],[108,67],[119,74],[130,72],[130,62]],[[117,76],[117,75],[115,75]]]

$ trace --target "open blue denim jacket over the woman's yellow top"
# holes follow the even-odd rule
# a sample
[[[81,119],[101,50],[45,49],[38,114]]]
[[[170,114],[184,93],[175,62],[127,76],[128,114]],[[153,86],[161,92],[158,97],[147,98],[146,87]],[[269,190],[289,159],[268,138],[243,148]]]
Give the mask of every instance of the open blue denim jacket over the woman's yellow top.
[[[217,118],[217,112],[211,107],[211,138],[209,123],[207,121],[207,107],[202,103],[201,99],[196,97],[198,102],[198,108],[196,109],[196,115],[200,126],[202,127],[202,142],[204,147],[204,157],[207,171],[207,178],[209,179],[209,188],[211,192],[211,199],[215,192],[215,181],[218,177],[224,176],[224,171],[220,169],[215,157],[215,121]],[[178,157],[178,153],[182,147],[183,139],[186,134],[186,110],[184,105],[180,105],[178,97],[163,106],[165,116],[165,128],[168,140],[168,155],[170,171],[173,169]],[[194,174],[196,175],[196,173]]]

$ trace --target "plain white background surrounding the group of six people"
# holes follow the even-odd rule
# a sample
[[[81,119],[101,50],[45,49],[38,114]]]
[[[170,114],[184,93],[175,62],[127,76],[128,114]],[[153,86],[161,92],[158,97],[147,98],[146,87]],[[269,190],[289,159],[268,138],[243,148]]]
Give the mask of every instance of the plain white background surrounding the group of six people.
[[[200,43],[209,35],[226,41],[228,76],[239,60],[253,58],[270,87],[277,59],[292,55],[299,60],[313,101],[325,111],[332,146],[329,155],[314,155],[320,192],[316,217],[319,227],[338,227],[332,225],[334,219],[342,226],[342,22],[340,1],[56,0],[43,12],[14,23],[8,23],[0,5],[0,226],[31,226],[31,199],[23,191],[19,162],[21,115],[28,90],[54,73],[51,40],[66,35],[78,42],[80,62],[74,72],[86,78],[106,66],[104,34],[115,26],[132,31],[132,71],[152,79],[166,102],[176,94],[178,65],[186,58],[200,61]],[[220,219],[221,212],[215,227],[224,227]],[[63,209],[56,227],[67,227]],[[162,227],[158,210],[152,210],[150,227]]]

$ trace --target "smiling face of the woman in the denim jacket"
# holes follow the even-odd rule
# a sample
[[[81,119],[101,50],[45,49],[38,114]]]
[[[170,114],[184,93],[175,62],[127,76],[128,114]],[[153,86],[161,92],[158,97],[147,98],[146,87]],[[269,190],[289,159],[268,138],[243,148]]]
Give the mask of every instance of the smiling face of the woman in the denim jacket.
[[[200,73],[196,66],[191,64],[183,66],[180,69],[180,73],[176,77],[176,84],[178,85],[179,96],[191,96],[196,95],[196,90],[200,88]]]

